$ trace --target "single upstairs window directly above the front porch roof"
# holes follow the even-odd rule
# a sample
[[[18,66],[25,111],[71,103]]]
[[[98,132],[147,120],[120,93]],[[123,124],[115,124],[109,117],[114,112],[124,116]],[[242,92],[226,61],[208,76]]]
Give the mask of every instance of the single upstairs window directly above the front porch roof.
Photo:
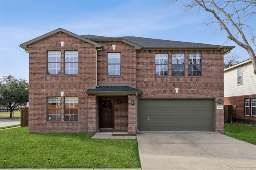
[[[121,75],[121,53],[108,53],[108,75]]]

